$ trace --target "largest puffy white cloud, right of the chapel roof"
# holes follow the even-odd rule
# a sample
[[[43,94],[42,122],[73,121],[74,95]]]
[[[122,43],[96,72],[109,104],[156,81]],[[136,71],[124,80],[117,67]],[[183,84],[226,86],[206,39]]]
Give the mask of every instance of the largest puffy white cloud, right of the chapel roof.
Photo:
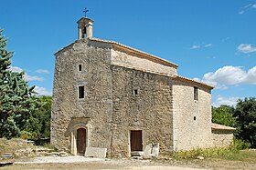
[[[256,66],[246,71],[241,66],[226,65],[205,74],[201,81],[219,89],[226,89],[227,85],[256,85]]]

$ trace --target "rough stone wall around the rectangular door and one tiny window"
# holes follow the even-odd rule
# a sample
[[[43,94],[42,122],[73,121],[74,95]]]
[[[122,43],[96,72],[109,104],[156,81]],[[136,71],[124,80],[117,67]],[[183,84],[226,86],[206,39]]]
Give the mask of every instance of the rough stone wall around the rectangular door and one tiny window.
[[[130,156],[130,130],[143,131],[144,148],[155,142],[162,153],[173,150],[170,82],[163,75],[112,65],[112,154]]]

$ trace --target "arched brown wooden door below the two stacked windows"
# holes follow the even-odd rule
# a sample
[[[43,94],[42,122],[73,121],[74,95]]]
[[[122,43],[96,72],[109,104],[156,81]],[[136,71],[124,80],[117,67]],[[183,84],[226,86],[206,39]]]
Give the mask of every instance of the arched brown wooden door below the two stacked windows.
[[[86,129],[77,130],[77,152],[78,155],[84,155],[86,148]]]

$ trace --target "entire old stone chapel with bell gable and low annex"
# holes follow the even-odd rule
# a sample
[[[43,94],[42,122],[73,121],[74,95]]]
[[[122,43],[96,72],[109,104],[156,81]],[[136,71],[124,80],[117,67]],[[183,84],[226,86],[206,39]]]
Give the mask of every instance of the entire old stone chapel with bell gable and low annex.
[[[180,76],[178,65],[94,38],[82,17],[78,40],[55,55],[51,144],[129,157],[159,143],[160,154],[232,143],[234,128],[211,123],[213,86]]]

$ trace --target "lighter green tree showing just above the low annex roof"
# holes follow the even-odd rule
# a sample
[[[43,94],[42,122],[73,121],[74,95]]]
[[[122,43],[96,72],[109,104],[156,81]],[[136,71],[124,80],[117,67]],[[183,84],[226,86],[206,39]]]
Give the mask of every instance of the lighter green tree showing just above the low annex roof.
[[[235,127],[237,121],[236,118],[233,117],[234,110],[234,107],[229,105],[220,105],[217,108],[212,107],[212,122]]]

